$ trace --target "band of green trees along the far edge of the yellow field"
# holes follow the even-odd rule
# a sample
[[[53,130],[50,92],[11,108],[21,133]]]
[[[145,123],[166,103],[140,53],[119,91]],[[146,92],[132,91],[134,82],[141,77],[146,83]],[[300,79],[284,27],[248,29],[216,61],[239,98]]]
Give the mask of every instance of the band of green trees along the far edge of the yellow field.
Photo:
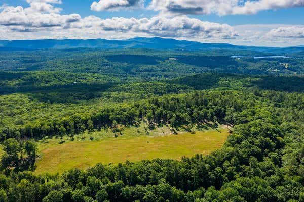
[[[206,121],[224,121],[229,108],[236,111],[249,108],[247,99],[245,92],[237,91],[197,91],[167,95],[135,103],[117,104],[114,107],[102,107],[90,113],[75,113],[61,119],[31,121],[16,127],[4,126],[0,134],[4,141],[7,138],[16,138],[19,133],[22,137],[35,139],[52,135],[73,135],[85,130],[112,127],[114,122],[136,125],[146,120],[149,125],[170,124],[172,127],[203,124]]]

